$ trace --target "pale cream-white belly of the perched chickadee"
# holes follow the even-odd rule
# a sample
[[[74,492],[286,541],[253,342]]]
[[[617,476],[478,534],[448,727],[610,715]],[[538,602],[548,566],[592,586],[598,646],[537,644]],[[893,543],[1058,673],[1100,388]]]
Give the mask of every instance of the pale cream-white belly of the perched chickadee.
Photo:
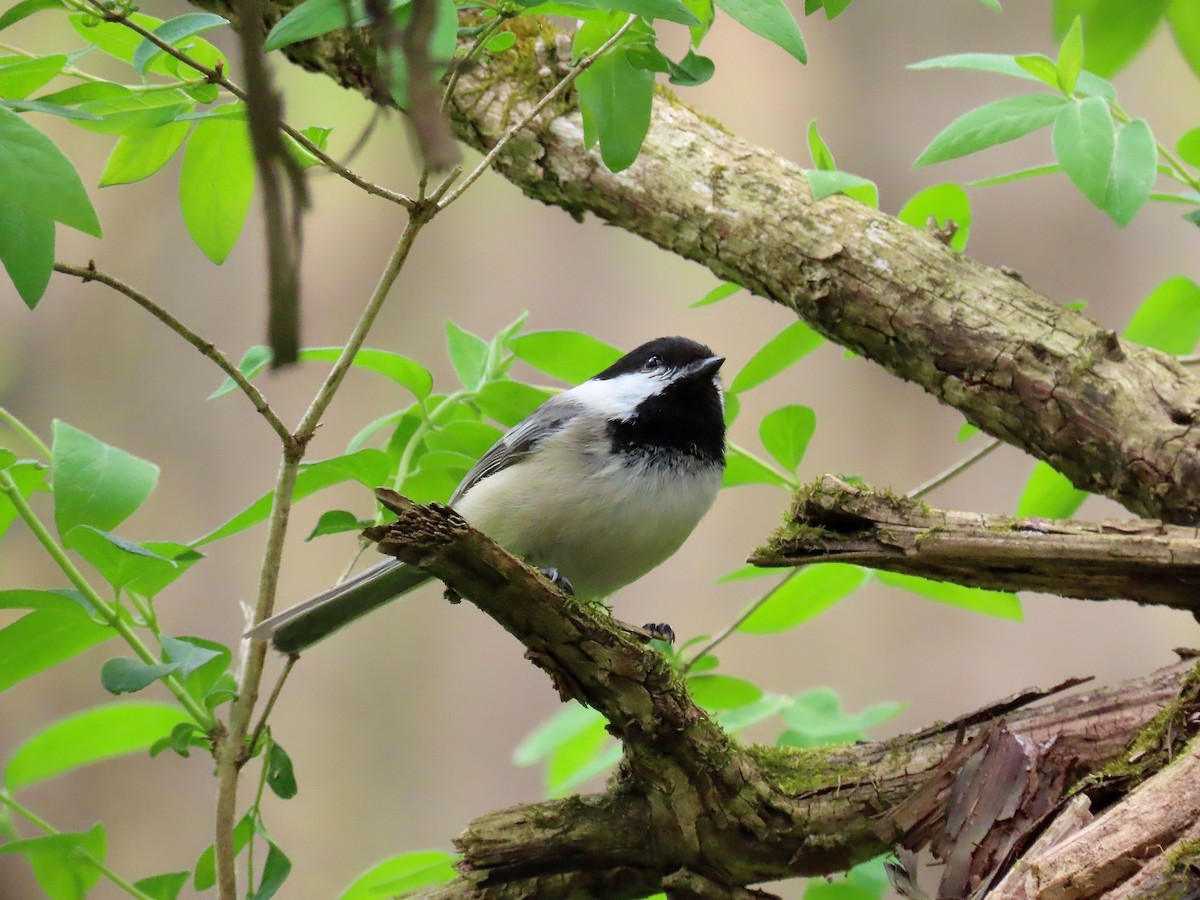
[[[607,596],[665,560],[691,534],[721,485],[721,469],[680,458],[570,456],[517,463],[456,504],[472,524],[529,564],[554,568],[586,600]]]

